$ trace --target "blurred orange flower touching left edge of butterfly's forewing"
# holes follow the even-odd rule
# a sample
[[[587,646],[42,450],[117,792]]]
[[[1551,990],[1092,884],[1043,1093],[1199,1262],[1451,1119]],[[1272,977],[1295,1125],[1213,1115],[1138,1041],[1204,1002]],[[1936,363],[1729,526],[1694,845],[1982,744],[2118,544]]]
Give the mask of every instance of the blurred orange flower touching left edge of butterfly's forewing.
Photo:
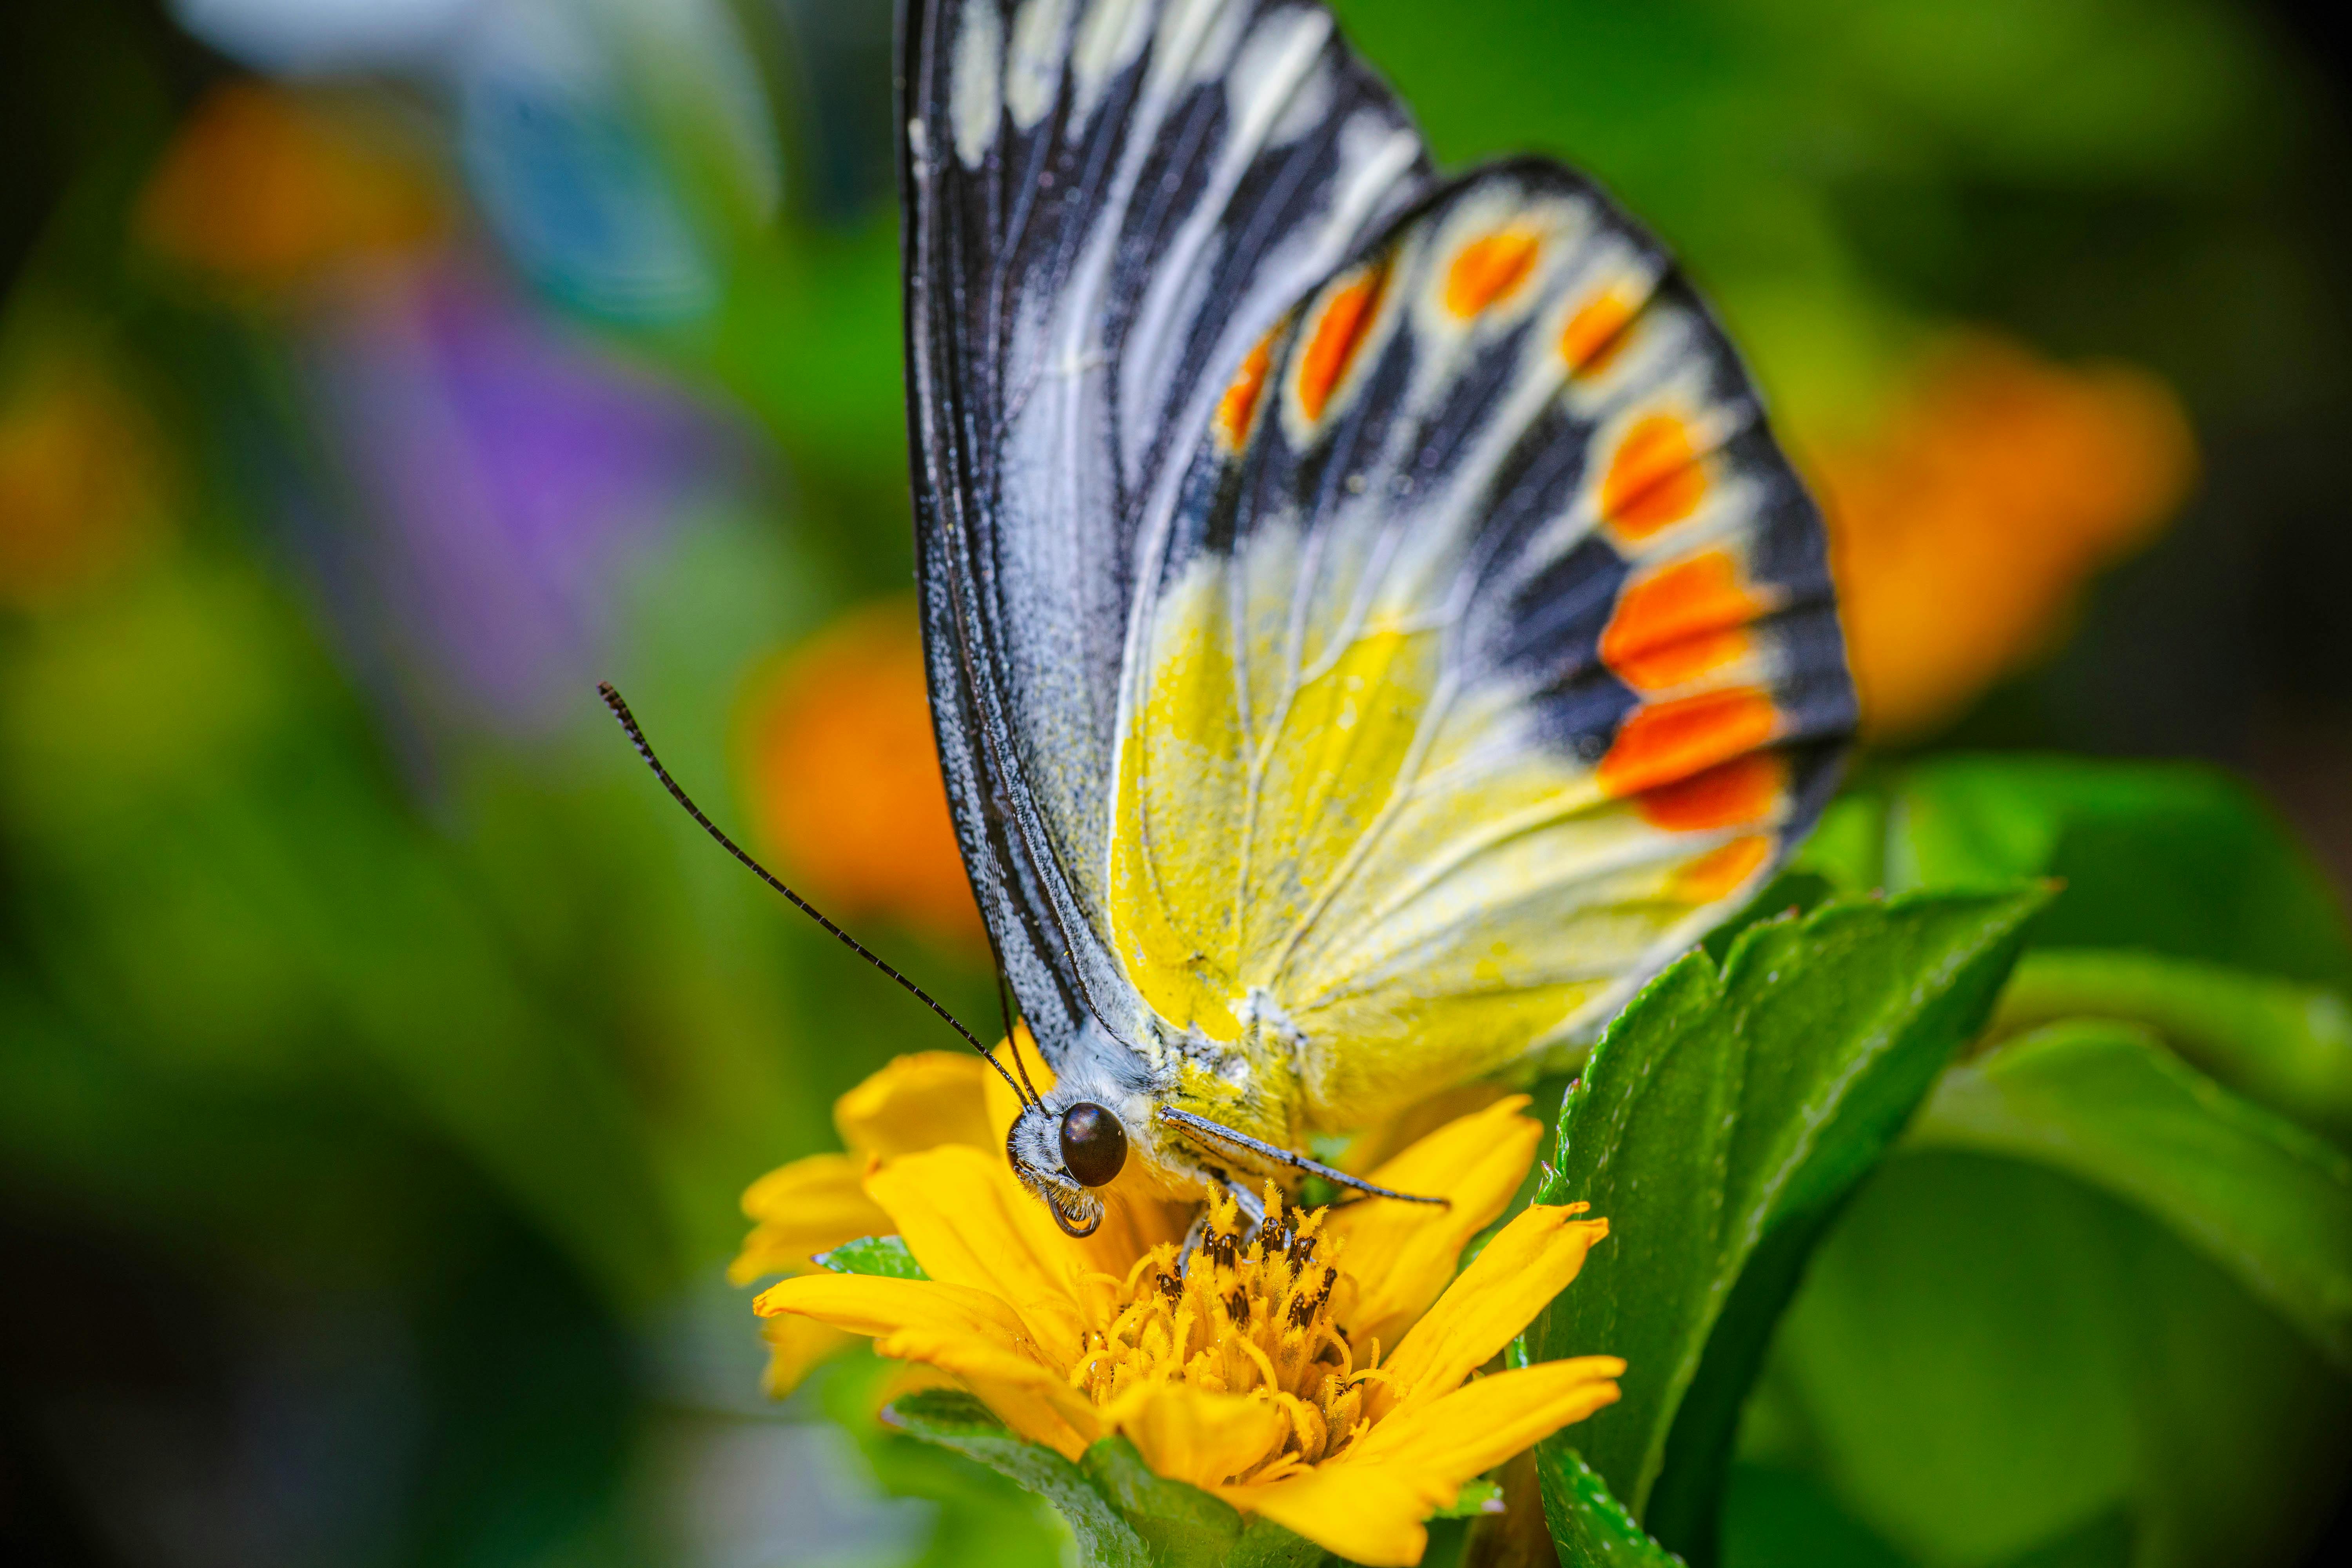
[[[851,611],[755,684],[750,769],[762,837],[818,905],[985,943],[910,602]]]

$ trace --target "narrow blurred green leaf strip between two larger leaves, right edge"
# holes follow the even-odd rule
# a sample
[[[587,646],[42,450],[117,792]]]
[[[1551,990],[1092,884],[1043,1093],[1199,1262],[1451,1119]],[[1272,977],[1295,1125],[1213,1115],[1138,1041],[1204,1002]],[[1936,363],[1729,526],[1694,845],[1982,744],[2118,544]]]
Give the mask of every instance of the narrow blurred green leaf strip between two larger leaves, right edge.
[[[2352,1143],[2352,1006],[2336,992],[2145,952],[2027,952],[1992,1027],[2074,1016],[2140,1023],[2256,1105]]]

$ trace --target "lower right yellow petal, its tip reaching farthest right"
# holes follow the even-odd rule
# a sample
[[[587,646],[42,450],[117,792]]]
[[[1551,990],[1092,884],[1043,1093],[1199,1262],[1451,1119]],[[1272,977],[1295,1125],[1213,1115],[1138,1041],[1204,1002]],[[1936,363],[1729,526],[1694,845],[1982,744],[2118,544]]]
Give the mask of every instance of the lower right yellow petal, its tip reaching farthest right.
[[[1616,1403],[1623,1375],[1616,1356],[1578,1356],[1479,1378],[1374,1422],[1336,1467],[1406,1469],[1425,1483],[1444,1481],[1451,1500],[1470,1476]]]

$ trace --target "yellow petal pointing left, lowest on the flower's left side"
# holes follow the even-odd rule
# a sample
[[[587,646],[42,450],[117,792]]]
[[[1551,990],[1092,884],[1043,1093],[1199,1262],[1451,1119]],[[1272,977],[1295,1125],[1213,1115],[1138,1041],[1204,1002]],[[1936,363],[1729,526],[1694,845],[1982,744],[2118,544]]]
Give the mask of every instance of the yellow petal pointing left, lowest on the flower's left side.
[[[1065,1458],[1075,1460],[1103,1434],[1087,1396],[1037,1361],[1021,1314],[988,1291],[929,1279],[804,1274],[762,1291],[753,1309],[873,1335],[884,1356],[955,1373],[1014,1432]]]

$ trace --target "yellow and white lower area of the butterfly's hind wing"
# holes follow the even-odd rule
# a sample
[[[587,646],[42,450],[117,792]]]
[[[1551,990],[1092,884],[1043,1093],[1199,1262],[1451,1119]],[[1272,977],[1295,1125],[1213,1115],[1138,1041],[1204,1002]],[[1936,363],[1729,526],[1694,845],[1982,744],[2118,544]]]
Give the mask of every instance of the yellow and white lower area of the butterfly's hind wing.
[[[1296,1070],[1303,1126],[1207,1074],[1188,1095],[1216,1110],[1188,1107],[1296,1138],[1496,1072],[1766,863],[1776,764],[1682,778],[1750,736],[1745,698],[1663,705],[1588,769],[1541,748],[1484,757],[1498,715],[1439,691],[1432,630],[1334,635],[1287,689],[1251,691],[1282,668],[1270,618],[1237,646],[1235,574],[1256,548],[1277,541],[1195,559],[1160,599],[1110,926],[1160,1020],[1235,1051],[1258,1088]],[[1644,795],[1658,771],[1679,783]],[[1585,896],[1562,898],[1569,884]]]

